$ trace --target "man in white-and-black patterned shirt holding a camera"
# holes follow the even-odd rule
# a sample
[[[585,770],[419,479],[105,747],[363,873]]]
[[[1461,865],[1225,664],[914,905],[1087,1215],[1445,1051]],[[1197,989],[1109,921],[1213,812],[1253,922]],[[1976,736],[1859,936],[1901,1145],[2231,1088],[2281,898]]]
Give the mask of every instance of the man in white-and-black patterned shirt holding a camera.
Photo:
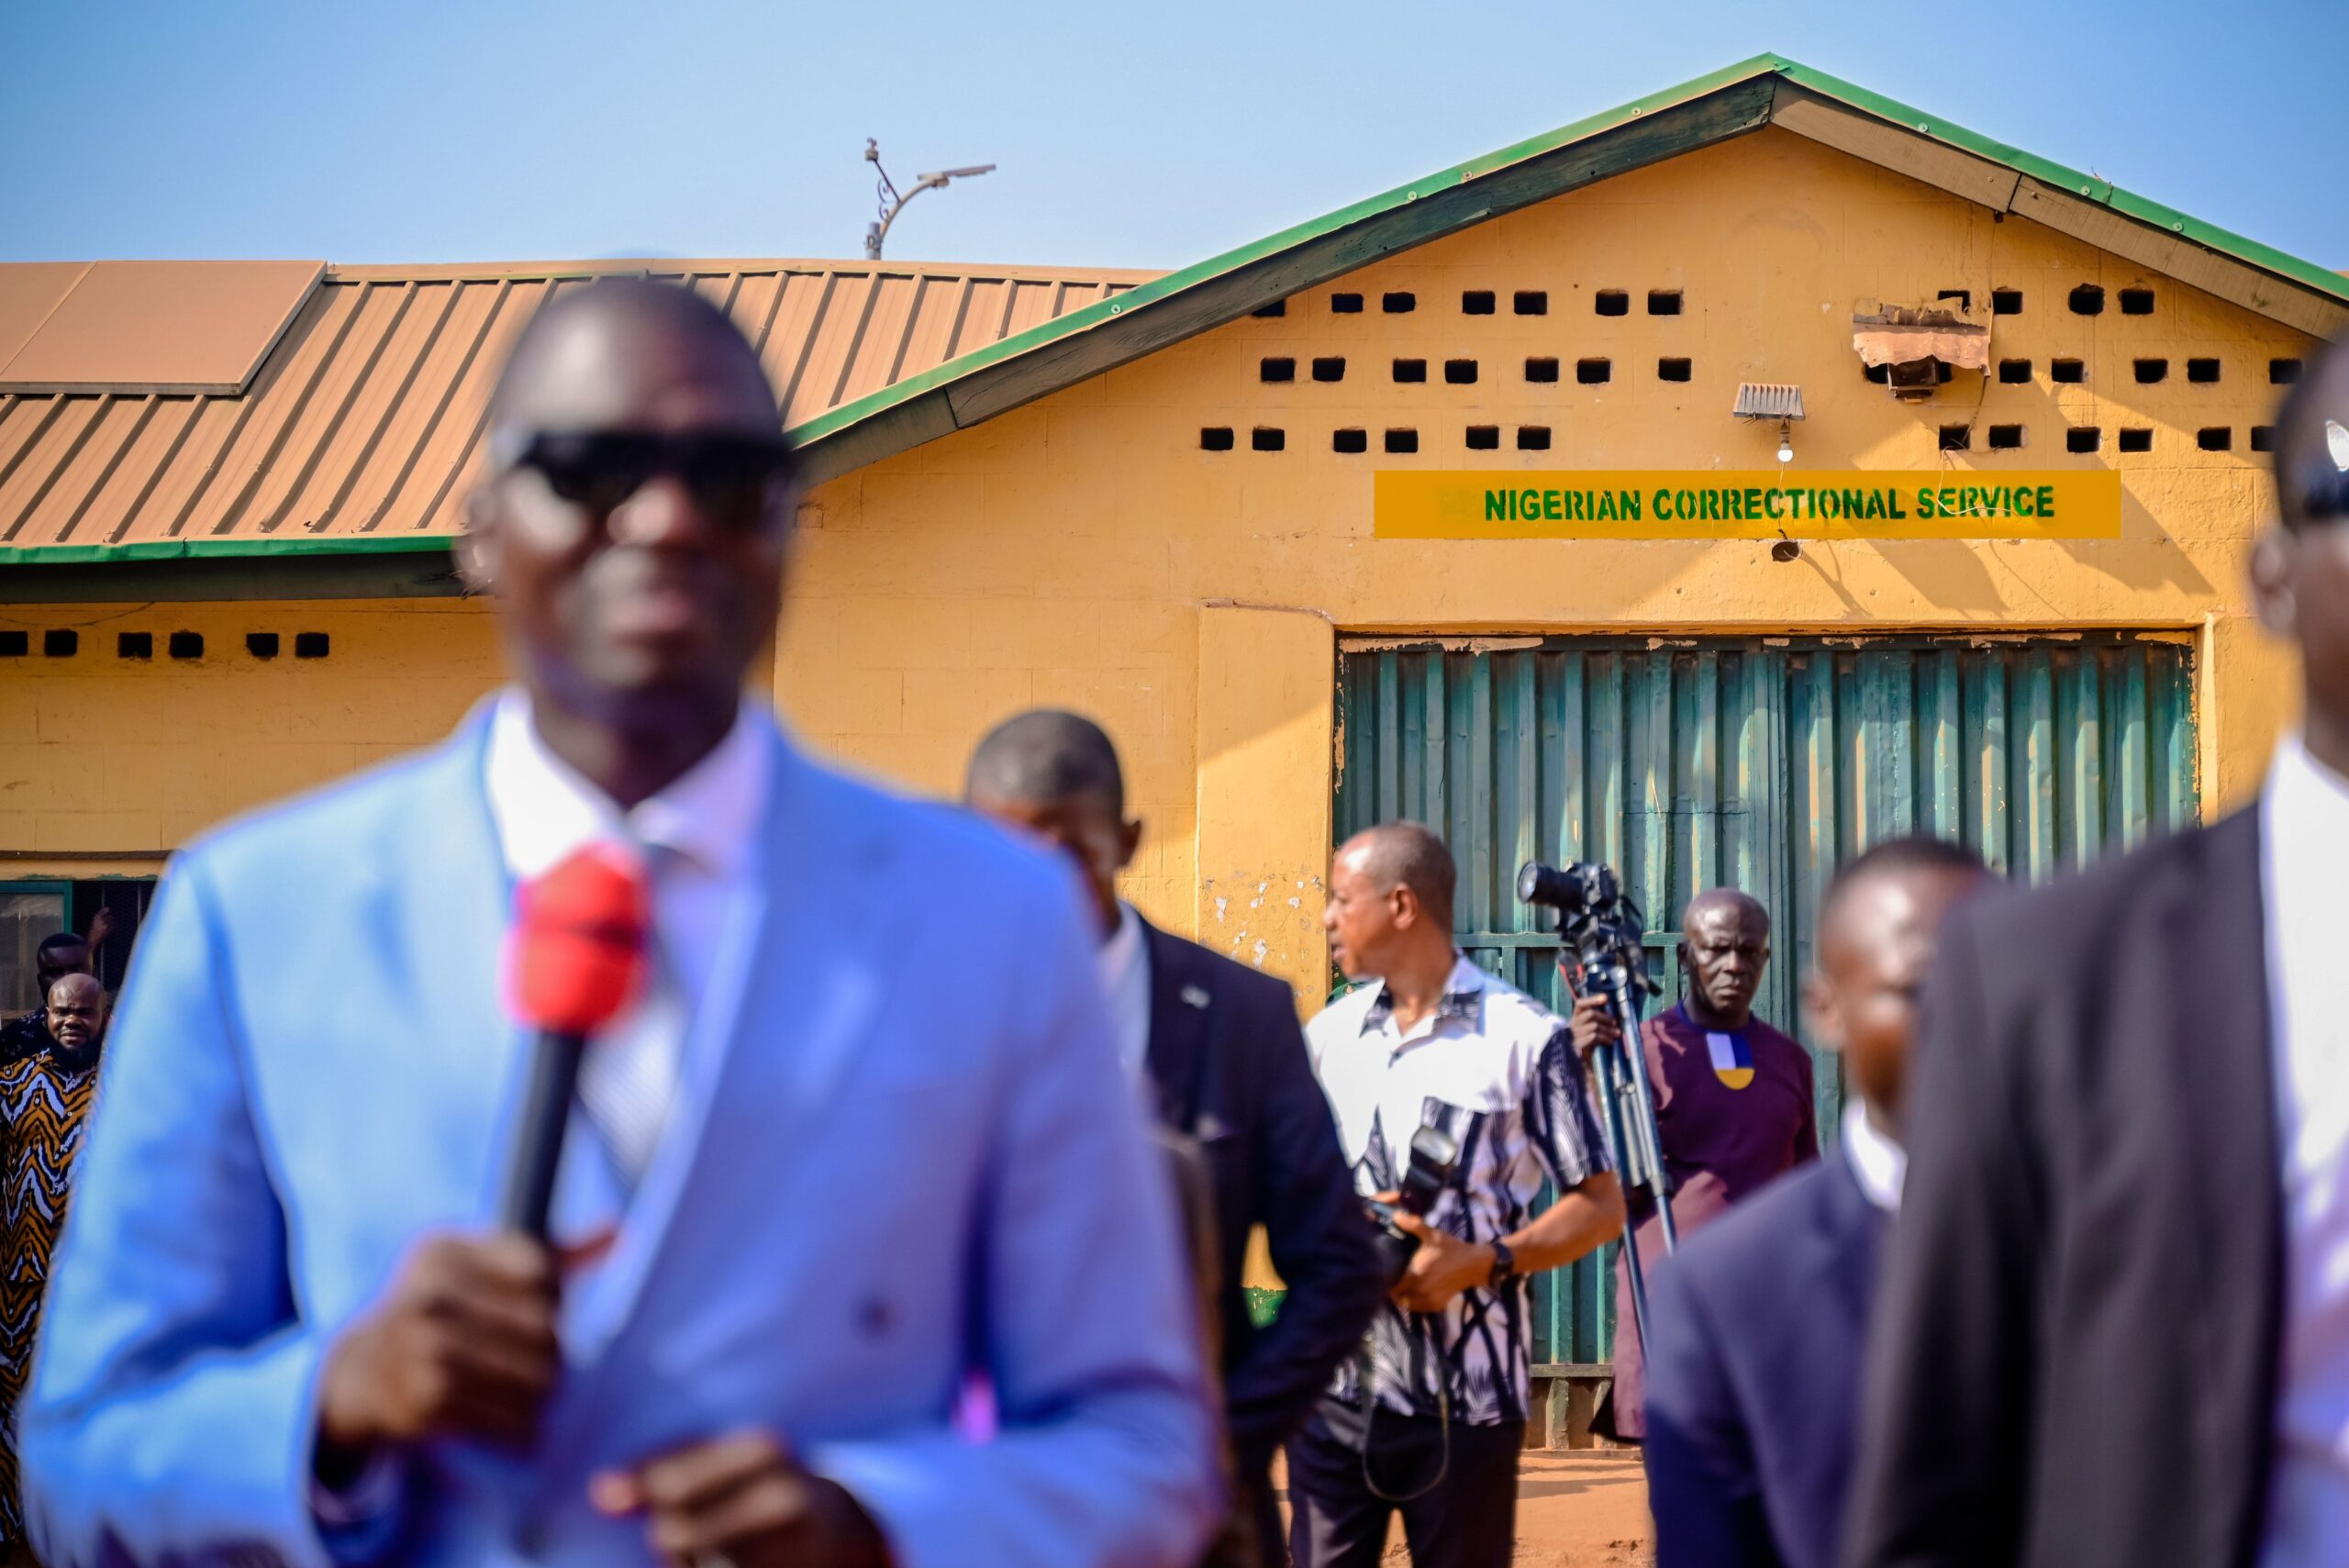
[[[1297,1568],[1369,1568],[1400,1507],[1412,1563],[1510,1561],[1517,1451],[1532,1401],[1525,1277],[1623,1230],[1623,1192],[1557,1014],[1452,946],[1452,854],[1395,822],[1330,866],[1330,958],[1374,981],[1311,1026],[1355,1188],[1393,1195],[1412,1134],[1459,1145],[1428,1216],[1398,1216],[1419,1251],[1369,1343],[1290,1444]],[[1534,1214],[1548,1178],[1557,1199]]]

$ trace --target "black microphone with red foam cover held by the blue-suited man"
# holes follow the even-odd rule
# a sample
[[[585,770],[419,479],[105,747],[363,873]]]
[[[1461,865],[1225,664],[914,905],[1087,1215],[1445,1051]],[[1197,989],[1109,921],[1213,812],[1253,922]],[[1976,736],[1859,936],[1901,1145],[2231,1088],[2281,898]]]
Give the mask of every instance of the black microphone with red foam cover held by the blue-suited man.
[[[510,1230],[547,1239],[547,1207],[580,1054],[587,1038],[620,1016],[644,988],[651,904],[644,866],[611,843],[578,850],[524,883],[514,899],[514,930],[505,946],[507,1005],[538,1030],[538,1045],[498,1207]]]

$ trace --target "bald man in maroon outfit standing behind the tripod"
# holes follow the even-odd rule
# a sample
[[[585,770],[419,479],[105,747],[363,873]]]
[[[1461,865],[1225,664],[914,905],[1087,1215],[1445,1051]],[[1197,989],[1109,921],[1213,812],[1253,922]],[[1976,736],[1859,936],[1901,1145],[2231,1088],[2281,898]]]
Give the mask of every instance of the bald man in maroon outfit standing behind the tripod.
[[[1647,1075],[1656,1091],[1656,1131],[1672,1176],[1680,1235],[1705,1225],[1729,1204],[1804,1160],[1818,1157],[1811,1108],[1811,1056],[1752,1014],[1769,967],[1769,911],[1734,887],[1689,899],[1680,922],[1682,1000],[1649,1019]],[[1574,1005],[1574,1045],[1618,1040],[1597,995]],[[1663,1258],[1663,1230],[1649,1204],[1640,1221],[1640,1263]],[[1616,1256],[1614,1390],[1593,1422],[1600,1432],[1647,1437],[1644,1366],[1633,1331],[1630,1277]]]

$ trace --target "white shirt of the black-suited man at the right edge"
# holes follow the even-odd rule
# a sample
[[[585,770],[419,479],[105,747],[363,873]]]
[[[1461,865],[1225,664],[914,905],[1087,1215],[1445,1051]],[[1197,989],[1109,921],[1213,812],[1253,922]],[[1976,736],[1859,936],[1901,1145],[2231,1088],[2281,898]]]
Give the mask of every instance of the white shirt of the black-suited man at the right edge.
[[[2283,1155],[2283,1364],[2267,1568],[2335,1568],[2349,1542],[2349,782],[2276,749],[2260,798],[2267,995]]]

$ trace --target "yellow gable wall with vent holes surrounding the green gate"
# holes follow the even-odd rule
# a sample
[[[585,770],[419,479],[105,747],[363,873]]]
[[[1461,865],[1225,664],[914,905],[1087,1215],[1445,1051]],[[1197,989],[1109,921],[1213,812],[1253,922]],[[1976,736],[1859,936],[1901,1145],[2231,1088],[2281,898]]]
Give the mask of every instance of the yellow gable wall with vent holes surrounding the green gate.
[[[2069,312],[2077,284],[2105,286],[2102,315]],[[2022,312],[1992,317],[1994,286],[2020,289]],[[2121,315],[2131,286],[2154,291],[2152,315]],[[1463,315],[1470,289],[1494,291],[1496,315]],[[1520,289],[1548,291],[1548,312],[1515,315]],[[1628,291],[1630,315],[1597,317],[1597,289]],[[1684,312],[1647,315],[1651,289],[1677,289]],[[2027,385],[1961,371],[1898,404],[1863,380],[1851,315],[1943,289],[1973,291],[1992,357],[2030,359]],[[1365,310],[1332,312],[1341,291]],[[1388,291],[1416,307],[1384,312]],[[1769,129],[1407,251],[1294,296],[1283,317],[822,486],[803,509],[780,704],[824,746],[935,791],[1017,707],[1097,716],[1151,822],[1130,897],[1306,998],[1325,979],[1320,885],[1299,869],[1330,850],[1332,629],[2192,629],[2201,791],[2217,810],[2253,789],[2293,707],[2288,662],[2246,620],[2241,563],[2271,514],[2250,453],[2276,397],[2267,361],[2307,350],[2053,230]],[[1264,383],[1266,357],[1294,359],[1297,380]],[[1344,380],[1311,380],[1315,357],[1344,357]],[[1405,357],[1428,361],[1423,385],[1393,380]],[[1560,359],[1560,383],[1527,383],[1529,357]],[[1576,383],[1583,357],[1611,361],[1607,385]],[[1658,380],[1661,357],[1691,359],[1691,380]],[[2086,380],[2055,385],[2058,357],[2081,359]],[[2138,385],[2138,357],[2166,357],[2168,380]],[[2189,357],[2217,357],[2220,383],[2189,383]],[[1447,385],[1447,359],[1475,359],[1478,380]],[[1776,427],[1729,418],[1743,380],[1802,385],[1804,469],[2116,467],[2123,535],[1806,542],[1792,563],[1764,542],[1372,538],[1384,467],[1773,467]],[[1973,423],[1976,451],[1938,451],[1945,423]],[[2025,448],[1985,451],[1992,423],[2022,425]],[[1501,451],[1470,451],[1470,425],[1499,425]],[[1550,451],[1517,451],[1522,425],[1548,427]],[[2067,453],[2072,425],[2098,425],[2105,448]],[[2215,425],[2232,453],[2196,448]],[[1233,451],[1203,451],[1203,427],[1231,427]],[[1252,451],[1257,427],[1280,430],[1283,451]],[[1369,432],[1369,453],[1334,453],[1341,427]],[[1416,430],[1419,453],[1384,453],[1391,427]],[[2152,430],[2154,448],[2119,453],[2121,427]],[[1219,631],[1233,610],[1320,631]],[[1268,906],[1250,904],[1243,927],[1219,899],[1252,901],[1259,883]]]

